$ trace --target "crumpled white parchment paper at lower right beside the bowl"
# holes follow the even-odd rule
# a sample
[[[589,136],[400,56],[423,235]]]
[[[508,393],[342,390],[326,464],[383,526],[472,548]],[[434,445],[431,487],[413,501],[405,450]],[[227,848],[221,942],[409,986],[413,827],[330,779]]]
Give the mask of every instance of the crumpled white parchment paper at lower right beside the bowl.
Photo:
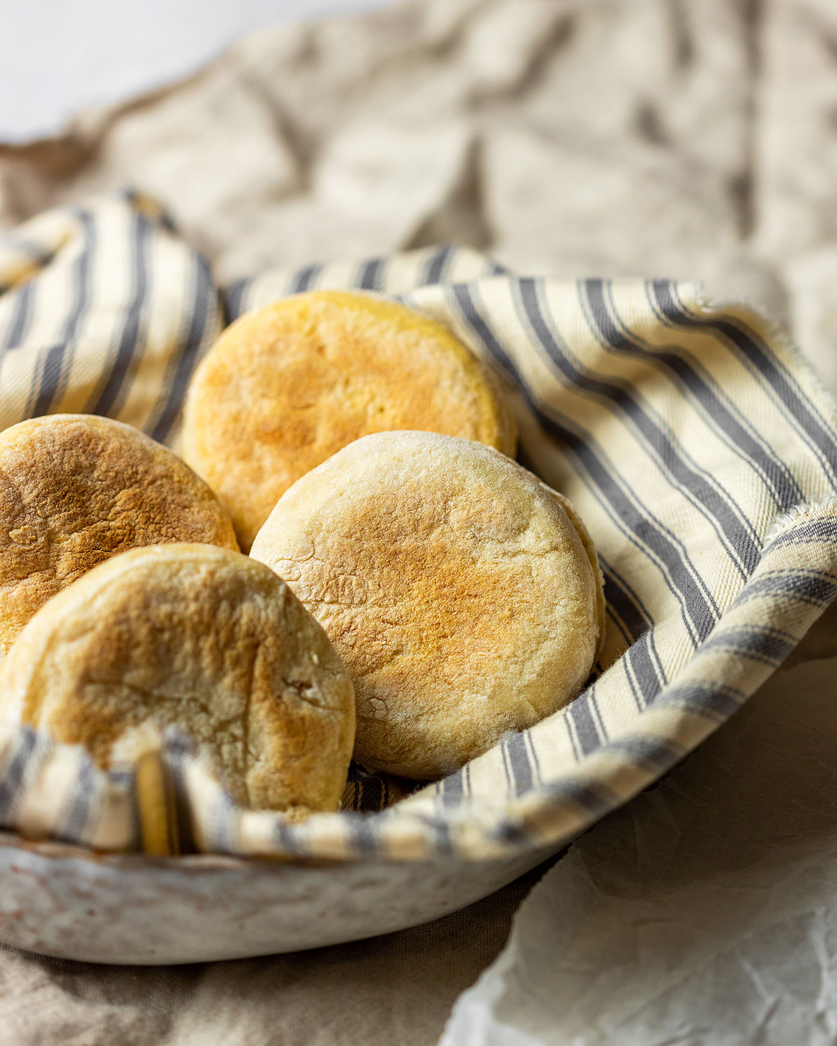
[[[804,656],[835,652],[827,616]],[[571,846],[442,1046],[834,1043],[836,680],[837,658],[778,672]]]

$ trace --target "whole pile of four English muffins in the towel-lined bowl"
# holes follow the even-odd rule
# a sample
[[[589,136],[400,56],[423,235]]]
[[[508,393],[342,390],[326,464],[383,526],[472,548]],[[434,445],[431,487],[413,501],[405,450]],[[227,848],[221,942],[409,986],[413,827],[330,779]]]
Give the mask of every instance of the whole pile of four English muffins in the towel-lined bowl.
[[[185,463],[93,415],[6,429],[2,714],[101,767],[176,727],[291,820],[338,808],[353,754],[452,772],[575,697],[603,639],[590,537],[515,446],[450,332],[341,292],[227,328]]]

